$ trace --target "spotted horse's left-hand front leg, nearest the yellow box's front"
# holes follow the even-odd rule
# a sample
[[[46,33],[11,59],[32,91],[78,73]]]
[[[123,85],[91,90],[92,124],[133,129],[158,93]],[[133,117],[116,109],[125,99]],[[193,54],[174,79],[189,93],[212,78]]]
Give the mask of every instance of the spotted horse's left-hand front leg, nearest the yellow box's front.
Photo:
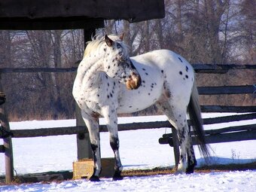
[[[93,175],[89,178],[90,181],[99,181],[99,173],[101,172],[101,157],[100,157],[100,142],[99,142],[99,123],[95,117],[91,117],[85,111],[81,111],[84,123],[87,126],[89,136],[90,136],[90,145],[93,150]]]

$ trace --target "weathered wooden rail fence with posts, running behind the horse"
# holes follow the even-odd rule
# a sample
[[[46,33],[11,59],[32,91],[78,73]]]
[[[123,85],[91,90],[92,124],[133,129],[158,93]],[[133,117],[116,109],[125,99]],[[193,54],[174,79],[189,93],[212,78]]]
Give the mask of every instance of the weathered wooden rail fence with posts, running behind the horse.
[[[194,69],[197,73],[227,73],[230,69],[256,69],[256,65],[193,65]],[[2,73],[26,73],[26,72],[76,72],[76,68],[69,69],[56,69],[56,68],[31,68],[31,69],[0,69],[0,91],[3,91],[1,84],[1,74]],[[221,87],[198,87],[199,93],[201,95],[216,95],[216,94],[254,94],[256,88],[254,85],[245,85],[245,86],[221,86]],[[203,112],[252,112],[252,114],[240,114],[230,117],[215,117],[208,118],[204,120],[204,124],[212,124],[212,123],[224,123],[230,122],[234,120],[250,120],[256,118],[256,106],[223,106],[223,105],[201,105],[201,109]],[[79,139],[87,139],[88,137],[84,137],[84,134],[87,133],[87,128],[85,126],[80,126],[81,123],[77,123],[78,126],[70,126],[70,127],[55,127],[55,128],[42,128],[36,130],[10,130],[7,114],[5,111],[5,105],[2,105],[0,108],[0,123],[2,128],[8,133],[4,139],[4,145],[0,145],[0,153],[5,153],[5,178],[6,182],[10,183],[14,176],[14,168],[13,168],[13,157],[12,157],[12,146],[11,146],[11,138],[25,138],[25,137],[38,137],[38,136],[59,136],[59,135],[71,135],[77,134]],[[190,122],[189,122],[190,123]],[[153,129],[153,128],[161,128],[161,127],[172,127],[168,121],[157,121],[157,122],[148,122],[148,123],[126,123],[118,125],[118,130],[142,130],[142,129]],[[249,128],[248,128],[249,127]],[[221,140],[216,140],[215,142],[229,142],[234,140],[246,140],[246,139],[256,139],[255,133],[255,125],[243,126],[243,127],[233,127],[227,128],[228,132],[233,133],[234,131],[243,131],[243,133],[239,133],[239,136],[236,136],[236,139],[225,139],[226,136],[223,135]],[[100,132],[106,132],[107,128],[104,125],[99,127]],[[248,136],[242,137],[241,135],[245,135],[246,130],[253,130],[250,134],[252,136],[249,138]],[[218,130],[219,131],[219,130]],[[217,131],[217,132],[218,132]],[[225,130],[227,131],[227,130]],[[211,141],[210,136],[219,134],[215,130],[207,131],[206,134],[209,135],[209,139],[207,141]],[[221,132],[223,133],[223,132]],[[247,135],[250,135],[247,134]],[[222,137],[222,136],[221,136]],[[1,133],[0,133],[1,138]],[[176,139],[175,139],[176,138]],[[234,138],[234,136],[233,136]],[[178,139],[176,136],[175,129],[172,127],[172,134],[163,136],[160,139],[160,143],[169,144],[173,146],[175,144],[175,162],[178,161]],[[212,141],[213,142],[213,141]],[[194,143],[196,144],[196,143]],[[78,151],[78,159],[79,157],[88,156],[87,154],[79,154],[84,153],[83,151]]]

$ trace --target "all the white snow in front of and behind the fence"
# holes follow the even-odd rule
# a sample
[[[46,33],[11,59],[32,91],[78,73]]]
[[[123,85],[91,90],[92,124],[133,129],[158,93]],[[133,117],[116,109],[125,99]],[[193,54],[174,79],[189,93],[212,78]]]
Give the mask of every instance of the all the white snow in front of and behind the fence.
[[[216,117],[227,114],[203,114]],[[120,117],[118,123],[166,120],[164,116]],[[104,123],[104,120],[100,120]],[[256,123],[246,120],[205,126],[205,130],[223,126]],[[41,127],[75,126],[75,120],[46,120],[10,123],[11,129],[35,129]],[[119,132],[120,156],[124,169],[148,169],[173,166],[172,148],[160,145],[158,139],[170,129],[130,130]],[[102,157],[114,157],[108,133],[100,133]],[[251,163],[256,160],[256,140],[211,145],[213,163]],[[75,136],[48,136],[29,139],[13,139],[14,169],[18,175],[35,172],[72,170],[77,159]],[[199,165],[205,162],[195,148]],[[0,154],[0,175],[5,175],[4,155]],[[93,183],[86,180],[52,182],[50,184],[21,184],[0,186],[0,191],[254,191],[256,170],[244,172],[210,172],[191,175],[156,175],[124,178],[111,181],[102,178]]]

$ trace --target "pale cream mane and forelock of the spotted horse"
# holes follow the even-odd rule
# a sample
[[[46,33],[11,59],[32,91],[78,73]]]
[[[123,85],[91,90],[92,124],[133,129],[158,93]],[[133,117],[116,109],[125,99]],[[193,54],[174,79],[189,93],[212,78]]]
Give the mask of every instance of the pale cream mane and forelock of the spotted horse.
[[[108,38],[111,38],[113,41],[117,41],[123,47],[123,51],[128,53],[128,46],[121,41],[121,39],[117,35],[108,35]],[[92,36],[92,41],[87,41],[87,47],[84,50],[84,57],[88,56],[90,53],[96,52],[99,47],[105,44],[105,35],[97,34]]]

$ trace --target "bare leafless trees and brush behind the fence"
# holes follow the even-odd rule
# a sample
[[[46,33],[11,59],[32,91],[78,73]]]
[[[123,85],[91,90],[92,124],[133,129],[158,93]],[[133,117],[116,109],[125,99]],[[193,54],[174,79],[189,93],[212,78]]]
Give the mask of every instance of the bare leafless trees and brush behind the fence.
[[[166,17],[141,23],[105,21],[98,33],[124,32],[130,55],[169,49],[190,63],[255,64],[255,1],[166,0]],[[84,33],[78,30],[0,31],[0,68],[77,66],[84,52]],[[255,84],[253,71],[228,75],[197,75],[198,85]],[[11,120],[73,118],[75,73],[2,74],[6,108]],[[235,98],[235,99],[233,99]],[[251,105],[252,96],[200,96],[200,102]],[[156,113],[154,108],[142,114]]]

